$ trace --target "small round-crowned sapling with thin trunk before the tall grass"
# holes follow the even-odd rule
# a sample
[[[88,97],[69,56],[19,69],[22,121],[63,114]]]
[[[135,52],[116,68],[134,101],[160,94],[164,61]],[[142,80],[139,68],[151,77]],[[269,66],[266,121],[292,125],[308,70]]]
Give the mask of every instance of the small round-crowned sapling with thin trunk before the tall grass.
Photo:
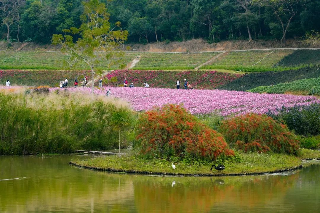
[[[120,132],[129,128],[132,124],[132,112],[128,108],[118,108],[111,116],[111,126],[119,133],[119,153],[120,153]]]

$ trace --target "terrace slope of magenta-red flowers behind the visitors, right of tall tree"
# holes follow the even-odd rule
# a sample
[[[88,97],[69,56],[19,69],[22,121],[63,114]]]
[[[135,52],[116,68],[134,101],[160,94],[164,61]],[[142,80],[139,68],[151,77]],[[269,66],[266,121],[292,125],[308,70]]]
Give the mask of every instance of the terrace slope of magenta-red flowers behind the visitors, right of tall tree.
[[[104,85],[123,86],[126,78],[129,84],[138,87],[148,82],[150,87],[175,88],[177,79],[182,85],[187,79],[196,89],[215,89],[240,77],[240,74],[217,71],[114,70],[105,76]]]

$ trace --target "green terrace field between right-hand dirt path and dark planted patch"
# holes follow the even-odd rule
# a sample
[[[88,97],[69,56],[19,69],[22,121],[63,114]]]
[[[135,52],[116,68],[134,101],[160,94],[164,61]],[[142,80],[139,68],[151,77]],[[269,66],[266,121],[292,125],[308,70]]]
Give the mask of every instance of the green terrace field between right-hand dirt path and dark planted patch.
[[[241,52],[229,52],[227,55],[219,57],[212,64],[201,67],[202,69],[229,69],[243,70],[245,72],[261,72],[282,70],[275,65],[285,56],[290,55],[294,50],[252,50]],[[269,56],[267,56],[271,53]],[[267,56],[267,57],[266,57]],[[263,59],[266,57],[265,59]],[[259,62],[263,59],[261,62]],[[259,62],[257,65],[255,63]],[[252,66],[254,65],[254,66]],[[252,66],[248,68],[249,66]]]

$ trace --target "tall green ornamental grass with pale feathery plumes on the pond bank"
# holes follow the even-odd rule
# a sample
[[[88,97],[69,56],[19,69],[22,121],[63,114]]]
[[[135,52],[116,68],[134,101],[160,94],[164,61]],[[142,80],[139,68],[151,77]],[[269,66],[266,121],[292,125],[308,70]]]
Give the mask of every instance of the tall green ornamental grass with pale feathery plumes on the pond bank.
[[[0,155],[117,148],[119,134],[110,124],[117,110],[131,113],[125,103],[103,96],[0,90]]]

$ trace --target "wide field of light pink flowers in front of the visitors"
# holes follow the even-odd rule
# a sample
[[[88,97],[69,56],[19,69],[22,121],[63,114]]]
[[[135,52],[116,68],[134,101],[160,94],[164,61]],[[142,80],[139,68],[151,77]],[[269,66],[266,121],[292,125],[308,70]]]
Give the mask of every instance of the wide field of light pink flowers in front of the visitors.
[[[150,110],[154,106],[167,103],[183,104],[192,114],[207,114],[219,110],[221,115],[244,114],[247,112],[265,113],[282,107],[308,105],[320,102],[313,96],[258,94],[227,90],[185,90],[143,87],[103,87],[95,89],[95,94],[105,95],[111,88],[112,97],[121,98],[137,111]],[[57,88],[51,88],[55,90]],[[90,93],[91,88],[68,88],[68,91]]]

